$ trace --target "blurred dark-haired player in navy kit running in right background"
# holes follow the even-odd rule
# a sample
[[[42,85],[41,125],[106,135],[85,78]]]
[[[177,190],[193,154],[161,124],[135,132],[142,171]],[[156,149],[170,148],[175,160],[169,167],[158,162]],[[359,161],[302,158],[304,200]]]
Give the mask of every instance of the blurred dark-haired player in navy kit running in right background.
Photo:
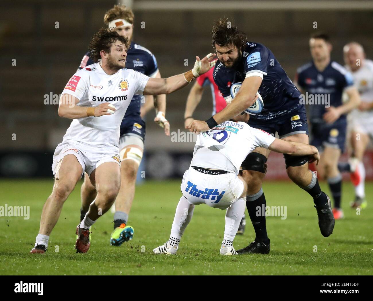
[[[342,176],[338,160],[345,148],[346,114],[358,106],[360,97],[351,74],[330,60],[332,44],[329,36],[314,34],[309,44],[313,60],[298,68],[295,81],[301,90],[307,92],[306,104],[312,99],[310,96],[319,100],[319,104],[310,101],[311,144],[321,153],[317,175],[320,179],[327,179],[329,184],[334,199],[334,218],[341,219]],[[346,103],[342,103],[343,91],[350,98]]]

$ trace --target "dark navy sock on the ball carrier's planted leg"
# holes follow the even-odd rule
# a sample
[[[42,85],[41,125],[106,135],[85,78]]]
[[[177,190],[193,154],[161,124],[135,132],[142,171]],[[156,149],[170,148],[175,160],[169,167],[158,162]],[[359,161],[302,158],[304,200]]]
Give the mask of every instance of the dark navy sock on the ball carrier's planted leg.
[[[257,194],[248,195],[246,197],[246,200],[247,211],[249,212],[251,222],[253,223],[256,239],[258,238],[263,241],[264,244],[267,244],[269,242],[269,239],[267,236],[265,215],[266,197],[264,196],[263,190],[260,189]],[[257,207],[260,207],[260,216],[257,216],[256,214]]]

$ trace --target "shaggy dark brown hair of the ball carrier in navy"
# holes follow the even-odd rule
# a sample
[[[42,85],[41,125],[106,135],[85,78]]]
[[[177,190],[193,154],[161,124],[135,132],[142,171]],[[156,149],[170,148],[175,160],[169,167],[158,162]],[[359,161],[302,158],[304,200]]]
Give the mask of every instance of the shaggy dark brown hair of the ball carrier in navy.
[[[238,50],[242,50],[247,42],[247,37],[244,32],[237,29],[237,26],[231,25],[227,19],[219,19],[214,21],[212,28],[212,48],[215,49],[215,44],[220,47],[236,46]]]

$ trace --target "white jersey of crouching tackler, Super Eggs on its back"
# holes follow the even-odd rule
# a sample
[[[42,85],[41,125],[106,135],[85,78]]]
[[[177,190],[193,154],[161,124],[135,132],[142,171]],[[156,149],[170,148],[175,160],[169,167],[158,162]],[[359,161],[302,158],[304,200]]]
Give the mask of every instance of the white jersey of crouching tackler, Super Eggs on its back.
[[[238,175],[249,153],[257,147],[268,148],[273,141],[275,137],[245,122],[226,121],[198,135],[191,165]]]

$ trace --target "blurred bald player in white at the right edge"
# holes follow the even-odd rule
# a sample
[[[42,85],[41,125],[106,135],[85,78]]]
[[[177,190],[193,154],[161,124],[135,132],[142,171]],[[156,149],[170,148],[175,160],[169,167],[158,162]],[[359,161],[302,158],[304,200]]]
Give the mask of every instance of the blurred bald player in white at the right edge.
[[[361,103],[357,109],[348,115],[348,136],[352,148],[348,163],[339,163],[340,171],[351,173],[355,185],[355,200],[351,207],[365,208],[365,167],[364,152],[373,138],[373,61],[365,58],[364,48],[356,42],[348,43],[343,48],[345,67],[354,78],[354,84],[359,91]]]

